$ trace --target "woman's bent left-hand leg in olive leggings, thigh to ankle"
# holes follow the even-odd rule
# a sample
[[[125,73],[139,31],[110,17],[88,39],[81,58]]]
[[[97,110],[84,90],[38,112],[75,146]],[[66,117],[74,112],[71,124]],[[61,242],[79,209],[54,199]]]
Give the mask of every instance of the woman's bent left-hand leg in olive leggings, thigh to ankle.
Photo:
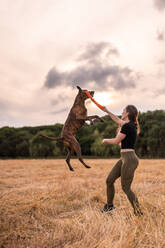
[[[114,182],[121,176],[122,160],[120,159],[109,173],[106,184],[107,184],[107,205],[113,206],[113,199],[115,195]]]

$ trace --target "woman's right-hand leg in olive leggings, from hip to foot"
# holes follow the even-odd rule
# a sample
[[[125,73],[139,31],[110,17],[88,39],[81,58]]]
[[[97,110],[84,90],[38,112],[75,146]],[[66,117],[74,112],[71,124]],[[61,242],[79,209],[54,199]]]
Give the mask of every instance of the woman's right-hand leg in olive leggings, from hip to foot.
[[[123,164],[121,168],[121,185],[124,193],[127,195],[130,201],[134,213],[141,215],[138,198],[135,193],[131,190],[131,184],[134,178],[134,172],[138,166],[138,158],[134,152],[127,152],[122,154]]]

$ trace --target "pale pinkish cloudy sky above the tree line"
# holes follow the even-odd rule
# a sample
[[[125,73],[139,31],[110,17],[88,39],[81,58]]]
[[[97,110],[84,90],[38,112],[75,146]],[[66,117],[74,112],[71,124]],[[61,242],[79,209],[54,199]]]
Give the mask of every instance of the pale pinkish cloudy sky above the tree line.
[[[117,115],[165,109],[165,0],[0,0],[0,37],[0,127],[63,124],[77,85]]]

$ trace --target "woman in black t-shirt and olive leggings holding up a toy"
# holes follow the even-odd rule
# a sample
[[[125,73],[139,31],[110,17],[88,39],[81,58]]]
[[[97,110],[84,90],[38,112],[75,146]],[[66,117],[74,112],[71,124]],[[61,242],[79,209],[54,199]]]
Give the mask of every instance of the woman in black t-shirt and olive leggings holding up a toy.
[[[135,153],[135,142],[137,132],[140,132],[138,123],[138,111],[135,106],[128,105],[124,108],[122,118],[118,118],[105,107],[104,112],[108,113],[111,119],[120,126],[120,131],[113,139],[103,139],[102,144],[119,144],[121,143],[121,158],[112,168],[109,173],[107,183],[107,204],[105,204],[103,212],[114,210],[113,199],[115,195],[114,182],[121,177],[121,186],[124,193],[130,201],[134,214],[141,216],[143,213],[140,210],[137,196],[131,190],[134,172],[138,166],[138,157]]]

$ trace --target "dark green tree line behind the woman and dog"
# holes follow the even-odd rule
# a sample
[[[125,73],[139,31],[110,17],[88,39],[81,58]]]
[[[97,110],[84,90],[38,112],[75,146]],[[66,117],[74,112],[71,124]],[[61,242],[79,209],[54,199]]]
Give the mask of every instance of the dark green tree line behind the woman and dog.
[[[104,123],[85,124],[76,133],[83,156],[118,157],[118,145],[101,145],[103,138],[113,138],[117,125],[108,115]],[[137,137],[136,153],[142,158],[165,158],[165,111],[155,110],[139,113],[141,132]],[[63,125],[55,124],[38,127],[0,128],[0,158],[48,158],[63,157],[66,150],[63,143],[40,137],[59,137]]]

